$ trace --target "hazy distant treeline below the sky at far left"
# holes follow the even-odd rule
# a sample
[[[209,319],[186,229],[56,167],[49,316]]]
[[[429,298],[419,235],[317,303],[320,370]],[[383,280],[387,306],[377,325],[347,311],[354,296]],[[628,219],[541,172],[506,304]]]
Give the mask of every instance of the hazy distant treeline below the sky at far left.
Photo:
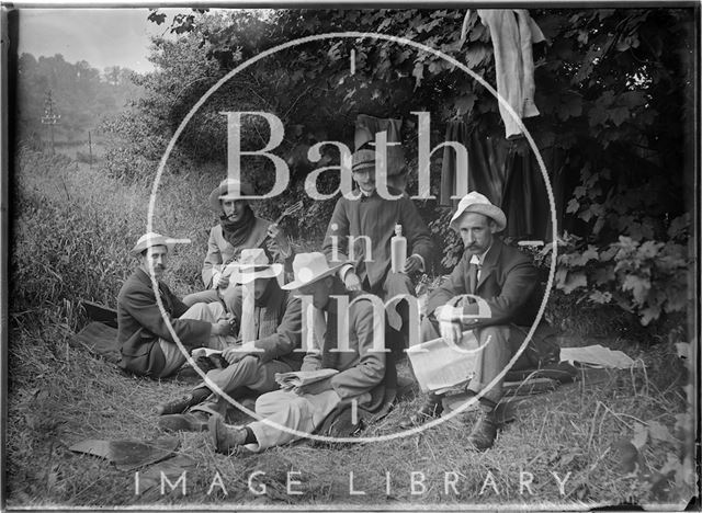
[[[42,116],[50,91],[54,112],[60,115],[55,127],[57,142],[87,139],[103,116],[123,111],[141,95],[134,81],[136,72],[112,66],[103,72],[80,60],[67,62],[64,56],[34,57],[22,54],[18,60],[16,128],[18,139],[46,140],[47,126]]]

